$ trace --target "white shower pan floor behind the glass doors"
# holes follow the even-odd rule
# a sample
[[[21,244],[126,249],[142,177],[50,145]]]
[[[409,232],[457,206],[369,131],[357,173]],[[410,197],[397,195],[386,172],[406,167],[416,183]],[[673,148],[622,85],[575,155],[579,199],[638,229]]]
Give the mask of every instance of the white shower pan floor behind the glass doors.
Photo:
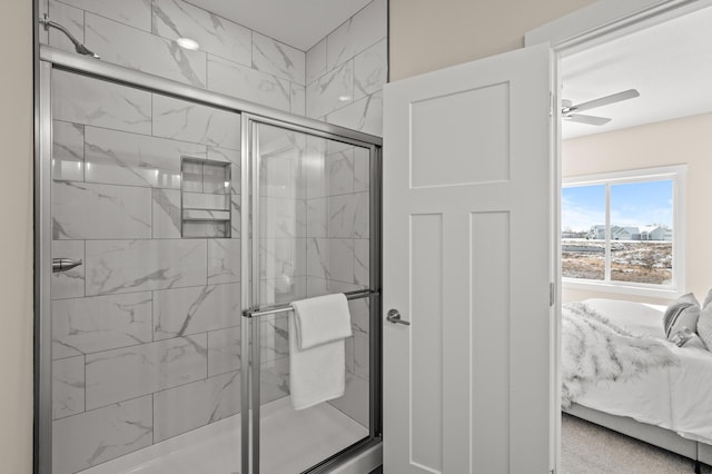
[[[285,397],[261,408],[260,472],[303,472],[368,436],[332,405],[296,412]],[[240,415],[81,471],[81,474],[238,474]]]

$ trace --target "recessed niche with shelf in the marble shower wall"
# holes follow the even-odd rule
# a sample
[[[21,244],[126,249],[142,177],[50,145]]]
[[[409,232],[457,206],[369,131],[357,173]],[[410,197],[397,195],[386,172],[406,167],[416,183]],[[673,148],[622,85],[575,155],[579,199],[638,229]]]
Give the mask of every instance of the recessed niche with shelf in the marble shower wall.
[[[229,238],[233,220],[230,164],[181,157],[180,175],[180,235],[185,238]]]

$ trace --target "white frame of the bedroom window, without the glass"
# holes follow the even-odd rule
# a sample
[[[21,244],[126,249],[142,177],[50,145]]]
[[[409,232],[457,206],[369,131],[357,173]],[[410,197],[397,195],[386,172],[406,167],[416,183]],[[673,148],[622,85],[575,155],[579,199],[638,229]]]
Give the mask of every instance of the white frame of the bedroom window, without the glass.
[[[688,165],[673,165],[654,168],[640,168],[623,171],[611,171],[595,175],[572,176],[562,179],[562,190],[570,187],[605,186],[605,270],[603,280],[572,278],[563,276],[563,258],[560,247],[558,257],[562,265],[562,284],[566,288],[591,292],[622,293],[636,296],[674,298],[685,290],[685,187]],[[656,285],[633,282],[611,280],[611,185],[672,181],[672,284]],[[561,220],[561,219],[560,219]],[[563,221],[562,221],[563,224]],[[562,240],[562,228],[558,229],[558,241]]]

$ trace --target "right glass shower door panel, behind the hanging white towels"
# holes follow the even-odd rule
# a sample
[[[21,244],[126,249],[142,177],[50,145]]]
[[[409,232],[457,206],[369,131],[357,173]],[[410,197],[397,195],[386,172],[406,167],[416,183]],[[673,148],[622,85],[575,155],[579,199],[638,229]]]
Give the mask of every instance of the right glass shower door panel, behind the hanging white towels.
[[[289,310],[248,319],[259,363],[250,367],[254,473],[300,473],[369,440],[372,426],[372,149],[326,136],[253,124],[253,192],[258,195],[250,307],[283,308],[333,293],[349,300],[344,396],[306,409],[290,402]],[[255,192],[257,191],[257,192]],[[255,237],[255,236],[254,236]],[[246,324],[246,323],[244,323]],[[258,369],[256,368],[258,366]],[[259,402],[257,402],[257,398]],[[372,429],[374,428],[374,429]]]

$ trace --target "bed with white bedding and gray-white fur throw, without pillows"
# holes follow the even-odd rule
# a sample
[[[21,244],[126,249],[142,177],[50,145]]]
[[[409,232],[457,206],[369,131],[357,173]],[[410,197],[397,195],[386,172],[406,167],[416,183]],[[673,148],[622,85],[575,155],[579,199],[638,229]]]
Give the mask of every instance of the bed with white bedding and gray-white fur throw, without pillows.
[[[712,353],[665,339],[664,306],[612,299],[562,309],[562,407],[712,464]]]

